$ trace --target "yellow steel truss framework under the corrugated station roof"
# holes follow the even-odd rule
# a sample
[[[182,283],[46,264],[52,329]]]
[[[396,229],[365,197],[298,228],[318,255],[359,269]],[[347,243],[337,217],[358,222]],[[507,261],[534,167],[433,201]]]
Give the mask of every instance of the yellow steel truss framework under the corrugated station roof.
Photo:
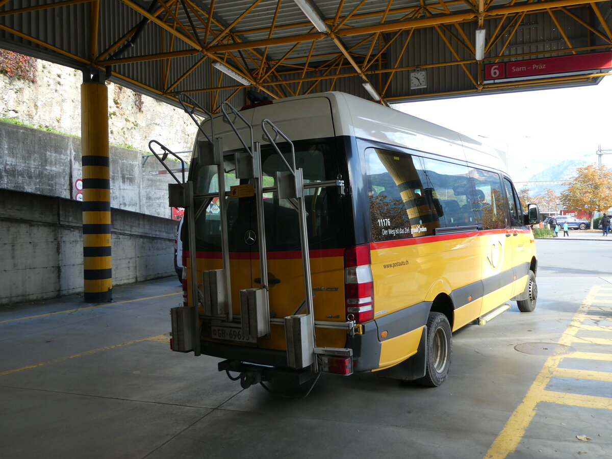
[[[61,53],[75,62],[103,69],[110,66],[113,76],[129,81],[133,86],[140,86],[157,94],[160,99],[165,97],[176,99],[177,87],[198,69],[206,69],[211,75],[208,84],[190,89],[190,93],[209,94],[211,108],[214,111],[223,100],[230,99],[244,88],[242,84],[222,86],[222,78],[216,80],[212,75],[212,64],[222,62],[226,67],[242,76],[253,88],[263,91],[271,97],[286,97],[288,95],[308,94],[316,91],[323,81],[330,81],[331,88],[341,78],[357,77],[363,83],[369,84],[381,97],[381,103],[408,100],[411,97],[422,97],[422,94],[389,94],[389,87],[394,78],[408,78],[409,71],[419,68],[437,68],[459,66],[469,81],[469,88],[461,91],[444,92],[432,90],[428,97],[447,97],[449,95],[469,94],[506,89],[511,91],[517,87],[542,86],[553,83],[578,84],[595,75],[569,75],[535,78],[529,81],[506,81],[490,83],[483,81],[483,64],[508,59],[507,50],[517,30],[526,17],[533,13],[545,12],[550,15],[552,23],[558,29],[564,43],[563,49],[547,50],[547,55],[556,53],[578,53],[583,51],[612,50],[612,31],[608,21],[602,14],[599,3],[608,0],[438,0],[428,2],[421,0],[408,6],[394,7],[392,0],[360,0],[346,6],[345,0],[334,3],[335,13],[323,18],[327,30],[318,31],[310,21],[305,21],[304,15],[296,15],[293,21],[279,20],[279,13],[289,0],[277,0],[274,10],[267,12],[267,24],[260,28],[243,27],[242,23],[261,7],[262,0],[252,0],[250,6],[239,13],[228,23],[222,23],[217,12],[222,8],[222,2],[211,0],[207,8],[203,2],[194,0],[160,0],[154,9],[147,10],[142,2],[135,0],[105,0],[118,1],[125,4],[146,21],[149,26],[159,29],[160,46],[153,53],[130,57],[113,57],[119,48],[130,43],[135,36],[138,25],[122,31],[110,47],[100,50],[99,30],[101,24],[100,9],[105,2],[100,0],[64,0],[48,2],[39,6],[15,7],[15,0],[0,0],[0,29],[10,34],[29,40],[35,45]],[[42,0],[41,0],[42,1]],[[45,0],[47,1],[47,0]],[[3,18],[17,15],[28,15],[42,10],[61,9],[75,4],[89,4],[88,35],[89,53],[87,56],[76,56],[61,47],[46,43],[23,31],[4,24]],[[316,1],[313,2],[316,4]],[[329,5],[330,2],[326,2]],[[367,4],[367,7],[366,7]],[[373,9],[372,6],[376,8]],[[576,13],[576,9],[589,8],[592,15],[585,21]],[[261,15],[261,12],[259,12]],[[392,18],[389,20],[389,18]],[[560,19],[571,20],[574,28],[581,28],[584,34],[596,36],[603,40],[603,45],[575,46],[569,35],[562,28]],[[486,58],[476,61],[474,54],[476,45],[469,36],[468,26],[474,24],[482,28],[491,21],[490,36],[485,48]],[[264,21],[265,22],[265,21]],[[368,23],[364,26],[364,23]],[[308,32],[304,32],[305,29]],[[320,29],[320,27],[319,27]],[[419,29],[431,29],[439,40],[444,43],[451,59],[443,62],[416,62],[414,65],[401,65],[400,57],[405,53],[414,32]],[[470,29],[471,30],[471,29]],[[267,37],[261,37],[267,32]],[[346,45],[345,39],[351,37],[352,45]],[[357,40],[353,37],[357,37]],[[316,53],[318,40],[330,40],[334,47],[323,53]],[[180,44],[180,46],[179,46]],[[301,45],[301,46],[300,46]],[[386,59],[386,51],[394,45],[400,50],[394,62]],[[1,46],[1,43],[0,43]],[[284,46],[282,55],[275,54],[274,47]],[[420,46],[427,46],[427,43]],[[334,49],[335,48],[335,49]],[[298,50],[300,51],[298,52]],[[327,49],[327,48],[326,48]],[[365,50],[365,51],[364,51]],[[491,56],[491,50],[496,55]],[[471,58],[466,59],[466,54]],[[512,58],[528,58],[541,56],[543,53],[513,54]],[[175,63],[186,56],[199,56],[195,63],[176,76],[172,73]],[[136,81],[129,75],[117,70],[117,65],[137,64],[138,62],[162,61],[159,88],[147,86],[143,81]],[[316,63],[316,65],[315,65]],[[477,65],[474,65],[474,64]],[[203,67],[204,66],[204,67]],[[226,80],[225,80],[226,81]],[[223,94],[223,96],[221,95]],[[228,94],[230,94],[228,96]]]

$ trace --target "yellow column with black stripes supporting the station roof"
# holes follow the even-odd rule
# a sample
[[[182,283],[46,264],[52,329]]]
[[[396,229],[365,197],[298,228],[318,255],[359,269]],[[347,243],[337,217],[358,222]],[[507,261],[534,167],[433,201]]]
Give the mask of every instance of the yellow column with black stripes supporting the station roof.
[[[88,80],[88,78],[86,78]],[[81,86],[83,174],[83,299],[113,300],[111,261],[111,180],[106,84]]]

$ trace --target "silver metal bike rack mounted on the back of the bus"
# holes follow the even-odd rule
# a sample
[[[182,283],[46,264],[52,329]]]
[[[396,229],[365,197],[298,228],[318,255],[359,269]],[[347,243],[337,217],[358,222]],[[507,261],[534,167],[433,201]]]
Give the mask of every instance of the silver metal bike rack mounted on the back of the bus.
[[[196,146],[196,158],[200,165],[217,166],[218,177],[218,192],[198,194],[198,198],[204,198],[203,204],[199,209],[195,209],[193,195],[193,182],[185,181],[184,173],[182,181],[170,171],[165,164],[164,167],[176,180],[177,184],[168,185],[170,194],[170,206],[185,207],[185,216],[187,218],[187,233],[189,243],[190,257],[190,284],[191,289],[191,304],[202,305],[203,313],[198,312],[198,307],[193,307],[193,312],[188,315],[190,324],[188,328],[192,330],[192,346],[195,355],[200,355],[200,319],[212,319],[220,325],[241,323],[242,334],[251,337],[264,337],[269,335],[272,323],[284,324],[285,338],[287,351],[287,365],[291,368],[302,369],[310,367],[310,371],[317,373],[319,371],[317,354],[326,354],[326,349],[329,354],[350,355],[351,349],[332,349],[319,348],[316,346],[315,327],[328,327],[335,329],[345,329],[353,334],[355,323],[354,321],[333,322],[333,321],[315,321],[313,294],[312,294],[312,279],[310,275],[310,256],[308,253],[308,234],[307,234],[307,213],[304,202],[304,190],[308,188],[320,187],[337,187],[341,194],[344,193],[344,182],[341,177],[336,180],[308,182],[304,183],[303,173],[301,168],[296,168],[294,144],[289,138],[278,129],[272,121],[264,119],[261,122],[261,129],[264,136],[267,138],[275,152],[280,156],[286,165],[286,171],[277,171],[275,177],[275,186],[263,187],[263,171],[261,168],[261,144],[253,141],[253,126],[228,102],[223,102],[221,111],[223,121],[229,124],[239,142],[242,144],[243,150],[235,155],[236,162],[236,178],[248,179],[252,181],[255,201],[256,201],[256,218],[258,230],[258,252],[259,264],[261,268],[261,287],[244,289],[240,292],[241,313],[239,316],[234,316],[231,305],[231,284],[230,284],[230,250],[228,242],[228,225],[227,225],[227,209],[226,197],[231,195],[231,191],[225,191],[225,170],[223,166],[224,155],[221,138],[215,138],[214,122],[212,114],[208,113],[198,103],[186,94],[179,95],[179,102],[183,106],[185,112],[198,125],[198,130],[206,140],[200,140]],[[191,107],[187,106],[187,103]],[[202,124],[195,118],[194,113],[196,108],[206,114],[211,119],[211,134],[206,133]],[[241,121],[246,127],[250,139],[244,140],[243,136],[236,127],[236,122]],[[274,138],[271,135],[274,133]],[[289,161],[285,159],[285,155],[281,152],[277,144],[277,139],[282,138],[288,145]],[[164,150],[162,157],[158,155],[152,148],[152,144],[161,146]],[[162,146],[157,141],[149,143],[149,149],[154,153],[155,157],[162,162],[168,154],[177,157],[166,147]],[[180,158],[179,158],[180,160]],[[182,161],[182,160],[181,160]],[[302,272],[304,276],[304,300],[299,305],[296,305],[294,314],[285,318],[271,318],[269,312],[269,279],[267,272],[267,251],[266,237],[264,225],[264,193],[277,192],[279,199],[286,199],[289,204],[296,209],[299,216],[299,233],[300,233],[300,250],[302,253]],[[214,198],[218,198],[220,208],[220,231],[221,231],[221,248],[223,268],[212,271],[204,271],[202,273],[201,282],[198,282],[198,272],[196,267],[196,250],[195,250],[195,221],[201,215],[206,207]],[[195,286],[195,288],[193,288]],[[201,286],[201,288],[200,288]],[[177,309],[177,308],[173,308]],[[300,314],[303,312],[304,314]],[[185,316],[185,315],[181,315]],[[173,315],[174,319],[174,315]],[[180,327],[177,327],[175,332],[180,332]],[[177,340],[178,341],[178,340]],[[184,340],[183,340],[184,341]],[[176,349],[190,351],[192,349]]]

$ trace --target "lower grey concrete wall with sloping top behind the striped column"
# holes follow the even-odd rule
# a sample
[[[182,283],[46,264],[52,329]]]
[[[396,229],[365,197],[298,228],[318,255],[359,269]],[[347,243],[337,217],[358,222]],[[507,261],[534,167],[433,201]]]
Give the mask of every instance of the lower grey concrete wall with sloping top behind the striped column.
[[[121,209],[111,218],[113,285],[176,275],[176,221]],[[0,305],[83,292],[80,201],[0,189],[0,234]]]

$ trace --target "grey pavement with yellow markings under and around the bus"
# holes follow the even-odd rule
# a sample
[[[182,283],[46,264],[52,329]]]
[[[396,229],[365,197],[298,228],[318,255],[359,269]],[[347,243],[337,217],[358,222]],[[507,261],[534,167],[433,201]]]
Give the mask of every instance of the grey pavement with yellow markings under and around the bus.
[[[324,374],[299,400],[242,389],[220,359],[170,351],[175,277],[107,304],[2,307],[0,457],[609,458],[612,255],[600,233],[558,239],[535,242],[534,312],[458,330],[435,389],[375,374]]]

